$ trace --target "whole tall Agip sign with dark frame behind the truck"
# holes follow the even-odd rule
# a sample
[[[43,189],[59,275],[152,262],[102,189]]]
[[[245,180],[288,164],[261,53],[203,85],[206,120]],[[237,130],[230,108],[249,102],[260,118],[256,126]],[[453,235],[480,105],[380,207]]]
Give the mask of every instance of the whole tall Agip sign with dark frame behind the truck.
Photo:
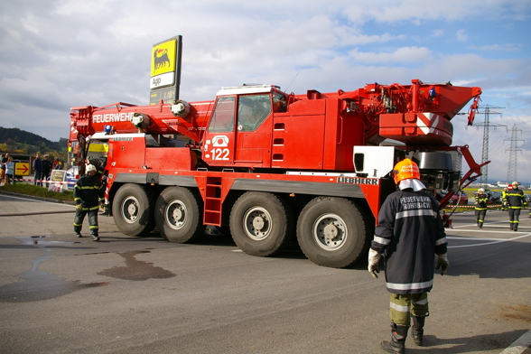
[[[181,86],[182,36],[154,44],[151,57],[149,104],[179,99]]]

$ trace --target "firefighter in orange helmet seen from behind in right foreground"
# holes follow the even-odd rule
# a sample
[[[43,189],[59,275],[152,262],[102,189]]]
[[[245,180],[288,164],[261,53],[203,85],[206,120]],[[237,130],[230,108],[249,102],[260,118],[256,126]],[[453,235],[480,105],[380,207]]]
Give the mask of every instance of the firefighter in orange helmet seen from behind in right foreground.
[[[439,203],[424,191],[417,164],[410,159],[396,163],[393,175],[399,191],[387,197],[378,214],[368,252],[368,271],[377,279],[383,255],[387,291],[391,293],[392,336],[381,346],[390,353],[404,353],[411,319],[415,344],[423,344],[434,269],[441,267],[444,275],[450,264]]]

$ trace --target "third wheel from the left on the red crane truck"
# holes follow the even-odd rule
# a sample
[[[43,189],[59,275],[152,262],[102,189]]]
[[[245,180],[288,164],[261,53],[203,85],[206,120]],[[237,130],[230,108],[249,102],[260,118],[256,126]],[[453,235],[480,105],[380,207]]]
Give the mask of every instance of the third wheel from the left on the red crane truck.
[[[293,211],[271,193],[247,191],[230,212],[230,233],[247,255],[273,256],[290,241]]]

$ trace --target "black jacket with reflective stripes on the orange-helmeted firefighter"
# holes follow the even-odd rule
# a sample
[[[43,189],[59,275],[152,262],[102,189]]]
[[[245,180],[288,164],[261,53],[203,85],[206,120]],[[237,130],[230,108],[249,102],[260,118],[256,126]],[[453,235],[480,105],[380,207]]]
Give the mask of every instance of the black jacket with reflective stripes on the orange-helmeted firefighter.
[[[438,202],[424,191],[390,194],[378,214],[371,247],[384,254],[389,293],[432,290],[435,254],[448,243]]]

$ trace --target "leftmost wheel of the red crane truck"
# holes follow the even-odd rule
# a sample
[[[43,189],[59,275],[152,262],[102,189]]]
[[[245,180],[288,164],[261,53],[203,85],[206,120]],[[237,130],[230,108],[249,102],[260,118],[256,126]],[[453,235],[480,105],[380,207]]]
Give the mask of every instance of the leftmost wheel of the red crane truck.
[[[144,236],[154,228],[154,196],[144,186],[127,183],[116,191],[113,218],[121,233]]]

